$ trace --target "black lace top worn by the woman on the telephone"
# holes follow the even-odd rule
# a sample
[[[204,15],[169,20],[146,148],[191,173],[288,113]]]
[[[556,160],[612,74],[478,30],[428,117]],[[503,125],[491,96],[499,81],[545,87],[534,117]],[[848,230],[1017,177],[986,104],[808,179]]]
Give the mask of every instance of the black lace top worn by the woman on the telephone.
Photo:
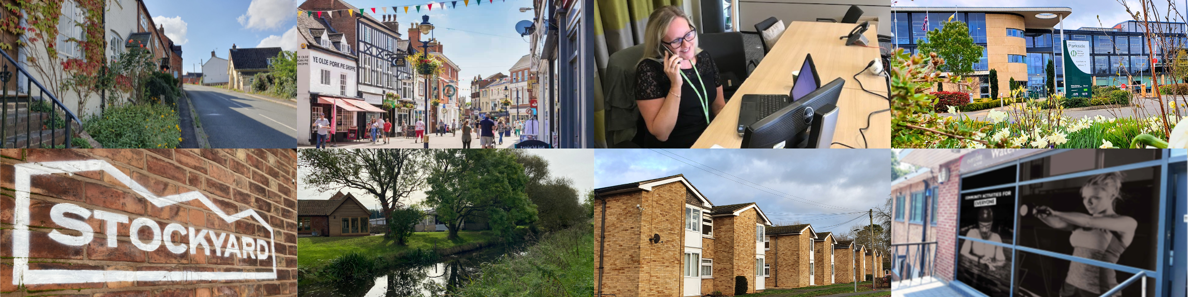
[[[706,121],[704,110],[701,107],[700,99],[697,99],[697,93],[693,91],[693,86],[695,83],[703,83],[704,91],[708,91],[708,100],[706,108],[712,108],[715,100],[718,100],[718,65],[714,64],[714,59],[709,57],[709,52],[701,51],[697,53],[697,64],[695,65],[697,71],[690,69],[681,69],[689,80],[681,84],[681,106],[677,110],[676,125],[672,127],[672,133],[669,133],[669,139],[666,141],[659,141],[656,137],[650,133],[645,135],[644,145],[647,147],[664,147],[664,148],[688,148],[693,146],[693,143],[697,141],[701,137],[701,132],[706,131],[709,122]],[[701,80],[697,80],[697,72],[701,72]],[[664,100],[668,96],[669,88],[671,83],[668,80],[668,75],[664,74],[664,64],[652,59],[645,59],[639,62],[636,69],[636,100]],[[697,91],[702,91],[702,86],[697,86]],[[704,95],[704,94],[703,94]],[[713,120],[713,110],[710,113],[710,120]],[[642,132],[647,132],[643,129]]]

